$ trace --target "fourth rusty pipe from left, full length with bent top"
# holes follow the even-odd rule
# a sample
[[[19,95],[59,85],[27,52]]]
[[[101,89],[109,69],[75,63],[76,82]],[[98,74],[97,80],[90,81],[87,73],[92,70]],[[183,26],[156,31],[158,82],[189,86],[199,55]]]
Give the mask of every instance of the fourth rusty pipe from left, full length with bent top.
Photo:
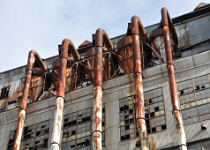
[[[134,89],[136,100],[136,121],[140,140],[140,150],[148,150],[148,137],[144,112],[144,96],[141,65],[141,37],[146,35],[139,17],[133,16],[132,22],[132,40],[133,40],[133,65],[134,65]]]

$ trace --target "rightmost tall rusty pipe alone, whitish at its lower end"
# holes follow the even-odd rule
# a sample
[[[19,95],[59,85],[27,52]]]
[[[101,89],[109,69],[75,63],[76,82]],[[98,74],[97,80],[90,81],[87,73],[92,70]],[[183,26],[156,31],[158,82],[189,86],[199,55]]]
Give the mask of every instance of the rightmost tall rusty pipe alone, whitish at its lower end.
[[[168,70],[169,87],[170,87],[170,93],[171,93],[171,103],[173,107],[173,115],[177,122],[176,127],[179,134],[179,139],[180,139],[180,148],[181,150],[187,150],[183,120],[180,114],[180,108],[178,104],[176,79],[175,79],[175,73],[174,73],[174,65],[173,65],[171,42],[170,42],[169,21],[171,20],[169,20],[170,17],[168,14],[168,10],[166,8],[162,8],[161,12],[162,12],[163,34],[165,37],[164,43],[165,43],[165,50],[166,50],[167,70]]]

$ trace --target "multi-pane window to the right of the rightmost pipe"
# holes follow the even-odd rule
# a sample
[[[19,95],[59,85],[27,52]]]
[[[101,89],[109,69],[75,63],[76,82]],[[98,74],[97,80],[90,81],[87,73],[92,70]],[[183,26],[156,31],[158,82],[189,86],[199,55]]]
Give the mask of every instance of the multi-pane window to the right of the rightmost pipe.
[[[209,75],[188,79],[177,85],[184,124],[210,119]]]

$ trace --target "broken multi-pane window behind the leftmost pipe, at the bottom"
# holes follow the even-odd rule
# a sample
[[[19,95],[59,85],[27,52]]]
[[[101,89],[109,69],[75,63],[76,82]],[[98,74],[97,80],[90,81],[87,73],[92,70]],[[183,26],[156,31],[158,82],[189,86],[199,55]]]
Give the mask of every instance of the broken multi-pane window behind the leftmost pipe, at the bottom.
[[[47,150],[50,121],[30,125],[23,128],[21,150]],[[12,150],[15,131],[10,132],[7,150]]]

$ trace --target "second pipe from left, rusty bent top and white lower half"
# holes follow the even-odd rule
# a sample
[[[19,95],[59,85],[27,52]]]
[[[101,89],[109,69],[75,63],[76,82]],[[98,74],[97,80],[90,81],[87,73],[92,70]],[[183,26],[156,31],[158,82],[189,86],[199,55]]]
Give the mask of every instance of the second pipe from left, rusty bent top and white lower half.
[[[72,53],[74,58],[80,59],[80,56],[74,47],[73,43],[69,39],[64,39],[61,46],[60,67],[58,71],[58,79],[54,82],[57,90],[55,114],[52,128],[51,137],[51,150],[60,149],[60,137],[61,137],[61,123],[63,118],[63,105],[65,99],[65,87],[66,87],[66,70],[68,64],[68,50]]]

